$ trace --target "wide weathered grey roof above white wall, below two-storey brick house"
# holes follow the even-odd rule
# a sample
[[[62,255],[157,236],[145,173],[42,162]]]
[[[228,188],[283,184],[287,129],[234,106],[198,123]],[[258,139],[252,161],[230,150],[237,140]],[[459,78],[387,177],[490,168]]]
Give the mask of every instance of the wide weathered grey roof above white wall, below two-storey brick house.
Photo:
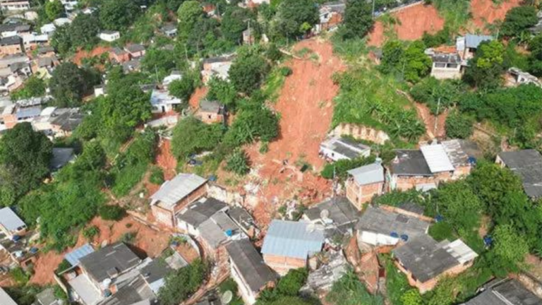
[[[399,236],[406,235],[410,239],[427,234],[429,222],[416,217],[391,212],[368,205],[365,213],[361,215],[356,228],[359,231],[375,232],[390,235],[392,232]]]

